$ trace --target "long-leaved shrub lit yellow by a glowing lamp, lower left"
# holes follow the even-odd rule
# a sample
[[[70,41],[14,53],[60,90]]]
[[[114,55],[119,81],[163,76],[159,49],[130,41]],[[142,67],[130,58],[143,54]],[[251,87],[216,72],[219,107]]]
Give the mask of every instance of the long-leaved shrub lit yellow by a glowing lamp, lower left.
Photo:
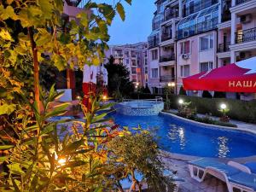
[[[106,143],[119,134],[116,125],[98,114],[100,100],[92,101],[90,113],[85,114],[85,123],[69,122],[67,131],[60,123],[49,118],[66,112],[68,103],[52,108],[52,102],[60,96],[53,89],[42,96],[44,112],[38,113],[35,103],[27,101],[24,115],[13,126],[15,137],[3,130],[0,149],[8,150],[1,157],[5,172],[0,175],[0,190],[12,191],[101,191],[112,188],[108,181],[108,148]],[[28,115],[28,113],[30,115]],[[67,125],[67,124],[66,124]],[[8,139],[7,139],[8,138]]]

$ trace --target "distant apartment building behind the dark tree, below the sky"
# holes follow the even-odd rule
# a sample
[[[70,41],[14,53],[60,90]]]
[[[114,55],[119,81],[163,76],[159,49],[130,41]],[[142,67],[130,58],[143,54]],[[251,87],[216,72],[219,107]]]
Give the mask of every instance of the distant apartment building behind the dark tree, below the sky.
[[[105,52],[104,64],[113,55],[114,63],[124,65],[130,72],[130,79],[134,84],[145,87],[148,84],[148,44],[110,45]]]

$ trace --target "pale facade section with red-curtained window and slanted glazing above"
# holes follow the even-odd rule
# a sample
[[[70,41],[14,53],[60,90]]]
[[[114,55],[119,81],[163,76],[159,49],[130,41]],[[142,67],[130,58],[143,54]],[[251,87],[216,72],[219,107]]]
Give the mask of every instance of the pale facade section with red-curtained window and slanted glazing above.
[[[182,79],[217,67],[218,0],[185,0],[177,24],[177,92]],[[202,91],[187,91],[201,96]]]

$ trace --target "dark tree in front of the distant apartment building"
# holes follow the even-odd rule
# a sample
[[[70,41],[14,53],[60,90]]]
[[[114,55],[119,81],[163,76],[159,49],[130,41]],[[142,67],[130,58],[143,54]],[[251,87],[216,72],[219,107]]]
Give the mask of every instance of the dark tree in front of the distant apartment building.
[[[130,81],[130,73],[128,69],[121,65],[115,64],[113,55],[108,59],[105,65],[108,71],[108,92],[111,96],[125,97],[134,91],[134,86]]]

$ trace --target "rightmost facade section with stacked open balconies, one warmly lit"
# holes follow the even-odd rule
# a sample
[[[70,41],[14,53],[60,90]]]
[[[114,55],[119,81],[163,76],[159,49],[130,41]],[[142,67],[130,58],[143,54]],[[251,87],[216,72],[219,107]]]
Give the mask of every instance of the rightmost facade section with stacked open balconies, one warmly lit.
[[[218,18],[218,67],[256,55],[256,0],[224,0]],[[227,93],[237,98],[234,93]],[[241,94],[243,100],[255,94]]]

